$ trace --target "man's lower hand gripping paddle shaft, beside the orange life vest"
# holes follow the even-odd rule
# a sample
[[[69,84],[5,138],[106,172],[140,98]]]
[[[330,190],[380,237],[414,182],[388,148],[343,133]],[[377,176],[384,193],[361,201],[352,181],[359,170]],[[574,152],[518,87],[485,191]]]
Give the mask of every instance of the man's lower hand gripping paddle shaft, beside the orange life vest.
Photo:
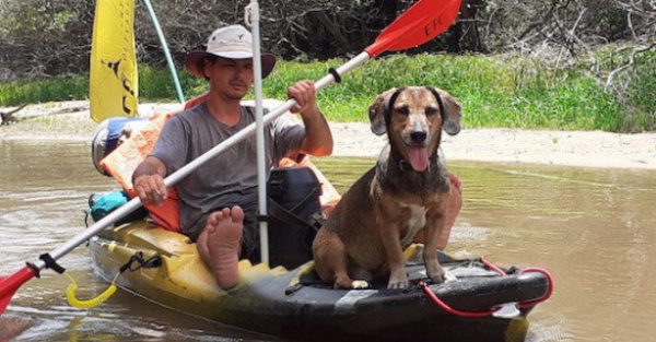
[[[166,199],[166,166],[154,156],[147,157],[132,174],[132,185],[143,204],[160,205]]]

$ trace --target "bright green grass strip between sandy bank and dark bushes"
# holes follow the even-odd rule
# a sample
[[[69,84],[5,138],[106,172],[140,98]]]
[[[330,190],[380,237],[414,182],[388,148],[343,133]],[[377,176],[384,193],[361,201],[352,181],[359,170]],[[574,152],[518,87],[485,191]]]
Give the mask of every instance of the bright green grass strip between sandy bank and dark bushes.
[[[609,55],[605,55],[609,56]],[[611,68],[613,57],[607,58]],[[302,79],[318,80],[344,60],[279,62],[263,83],[266,97],[285,98]],[[462,105],[462,126],[526,129],[642,131],[656,129],[656,55],[643,55],[631,70],[622,105],[587,72],[585,63],[553,67],[515,56],[389,55],[343,75],[317,95],[328,120],[366,121],[380,92],[401,85],[430,85],[452,93]],[[140,68],[141,102],[175,102],[167,69]],[[207,91],[204,80],[179,72],[186,98]],[[84,99],[87,75],[0,83],[0,105]]]

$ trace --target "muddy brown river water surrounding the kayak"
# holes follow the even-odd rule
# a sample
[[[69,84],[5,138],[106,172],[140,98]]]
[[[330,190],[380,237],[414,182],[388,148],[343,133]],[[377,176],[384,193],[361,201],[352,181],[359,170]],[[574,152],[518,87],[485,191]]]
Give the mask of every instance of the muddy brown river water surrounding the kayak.
[[[0,274],[84,228],[94,191],[116,189],[82,142],[0,141]],[[343,191],[371,158],[316,163]],[[552,298],[529,316],[528,341],[655,341],[656,173],[520,164],[452,163],[465,205],[447,251],[502,266],[547,269]],[[83,246],[60,259],[89,298],[107,284]],[[24,284],[3,318],[30,320],[16,341],[281,341],[199,320],[118,291],[71,308],[69,281],[51,271]]]

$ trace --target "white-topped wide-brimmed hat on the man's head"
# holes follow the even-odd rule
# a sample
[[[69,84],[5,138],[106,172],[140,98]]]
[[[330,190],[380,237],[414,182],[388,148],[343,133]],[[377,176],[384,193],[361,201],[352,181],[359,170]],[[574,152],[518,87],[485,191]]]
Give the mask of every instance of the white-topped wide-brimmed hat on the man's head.
[[[229,59],[253,58],[253,36],[242,25],[231,25],[214,31],[208,39],[206,51],[192,51],[187,56],[187,61],[185,62],[187,71],[197,78],[204,78],[201,70],[203,67],[202,60],[208,56]],[[261,61],[263,79],[273,70],[276,56],[261,54]]]

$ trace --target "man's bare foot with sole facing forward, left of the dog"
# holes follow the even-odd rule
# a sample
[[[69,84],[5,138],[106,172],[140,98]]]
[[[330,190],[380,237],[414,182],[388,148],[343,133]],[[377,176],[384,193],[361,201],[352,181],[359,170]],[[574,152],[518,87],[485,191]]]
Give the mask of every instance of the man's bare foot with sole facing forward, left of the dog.
[[[239,207],[224,208],[210,214],[204,227],[210,268],[221,288],[239,282],[237,263],[242,246],[244,211]]]

